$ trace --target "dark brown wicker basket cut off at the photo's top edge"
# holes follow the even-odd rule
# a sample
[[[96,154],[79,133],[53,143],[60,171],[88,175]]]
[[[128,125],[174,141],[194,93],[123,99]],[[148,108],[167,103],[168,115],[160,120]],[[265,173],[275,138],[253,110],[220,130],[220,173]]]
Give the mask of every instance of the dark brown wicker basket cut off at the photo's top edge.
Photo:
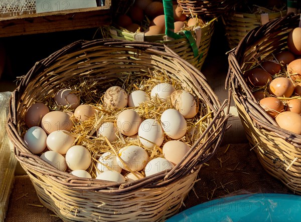
[[[242,1],[238,0],[177,0],[187,15],[218,18],[225,13],[235,9],[235,6]]]

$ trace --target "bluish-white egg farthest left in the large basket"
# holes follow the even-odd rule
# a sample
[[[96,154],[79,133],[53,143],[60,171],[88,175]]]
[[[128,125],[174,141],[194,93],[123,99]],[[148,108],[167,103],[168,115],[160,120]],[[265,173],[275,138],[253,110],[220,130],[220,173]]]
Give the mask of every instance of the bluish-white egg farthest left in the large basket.
[[[46,148],[46,132],[39,126],[33,126],[24,135],[24,142],[28,149],[34,153],[40,153]]]

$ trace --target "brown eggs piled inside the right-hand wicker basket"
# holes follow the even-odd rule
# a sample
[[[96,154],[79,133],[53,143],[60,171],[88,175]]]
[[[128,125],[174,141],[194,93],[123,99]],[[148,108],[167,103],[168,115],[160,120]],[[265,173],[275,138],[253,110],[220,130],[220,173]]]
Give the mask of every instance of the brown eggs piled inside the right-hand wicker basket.
[[[301,28],[292,29],[288,50],[245,73],[253,96],[283,129],[301,135]]]

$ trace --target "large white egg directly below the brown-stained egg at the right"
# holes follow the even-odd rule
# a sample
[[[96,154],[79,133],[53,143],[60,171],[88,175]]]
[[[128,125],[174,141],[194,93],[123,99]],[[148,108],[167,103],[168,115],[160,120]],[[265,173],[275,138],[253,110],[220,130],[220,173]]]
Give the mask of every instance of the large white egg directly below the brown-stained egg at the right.
[[[167,109],[162,113],[161,126],[166,135],[172,139],[180,139],[187,131],[185,118],[175,109]]]

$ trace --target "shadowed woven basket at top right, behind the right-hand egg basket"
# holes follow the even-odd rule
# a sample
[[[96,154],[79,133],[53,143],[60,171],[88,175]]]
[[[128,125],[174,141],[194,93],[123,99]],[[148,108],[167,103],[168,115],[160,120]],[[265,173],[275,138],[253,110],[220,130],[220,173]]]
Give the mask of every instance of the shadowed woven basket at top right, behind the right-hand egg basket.
[[[229,48],[235,48],[242,38],[254,28],[285,15],[286,11],[283,10],[260,14],[233,12],[222,16]]]

